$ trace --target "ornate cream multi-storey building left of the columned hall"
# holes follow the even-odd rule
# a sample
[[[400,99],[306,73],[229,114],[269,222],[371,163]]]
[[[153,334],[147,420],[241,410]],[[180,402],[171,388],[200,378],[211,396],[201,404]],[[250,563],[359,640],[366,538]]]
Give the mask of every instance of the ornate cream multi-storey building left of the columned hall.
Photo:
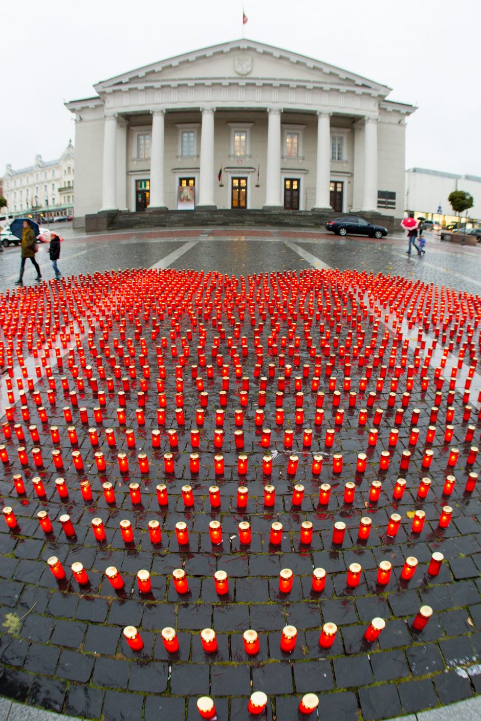
[[[74,146],[71,141],[56,160],[35,156],[35,163],[21,170],[6,166],[4,196],[9,216],[31,215],[53,220],[73,215]]]

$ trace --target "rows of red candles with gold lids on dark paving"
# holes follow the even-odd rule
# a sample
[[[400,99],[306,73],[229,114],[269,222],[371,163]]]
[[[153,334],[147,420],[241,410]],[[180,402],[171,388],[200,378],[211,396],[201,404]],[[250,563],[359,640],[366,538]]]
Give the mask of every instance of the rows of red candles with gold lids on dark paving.
[[[342,551],[369,547],[374,536],[389,549],[402,536],[413,555],[400,567],[379,562],[366,595],[393,583],[404,590],[420,574],[436,583],[456,500],[479,493],[480,319],[477,296],[337,270],[247,278],[128,270],[2,296],[0,466],[12,489],[2,497],[4,523],[22,534],[35,509],[47,541],[75,541],[82,528],[85,546],[109,547],[120,534],[129,549],[149,539],[152,554],[174,541],[195,554],[201,512],[212,552],[252,552],[255,540],[268,554]],[[343,450],[346,440],[356,451]],[[174,512],[184,520],[172,530],[165,521]],[[420,568],[415,541],[426,534],[439,550]],[[100,571],[130,592],[117,568],[86,568],[78,555],[70,567],[45,558],[60,588],[92,593],[89,573]],[[322,599],[331,575],[313,565],[305,597]],[[337,593],[366,583],[361,562],[344,576]],[[155,598],[154,578],[138,569],[140,598]],[[295,580],[281,569],[279,598]],[[167,581],[177,598],[190,593],[182,568]],[[211,583],[219,603],[234,600],[224,568]],[[420,606],[412,632],[431,615]],[[386,624],[373,614],[360,627],[366,648]],[[278,632],[292,653],[296,627],[280,619]],[[245,630],[246,658],[260,652],[260,635]],[[123,637],[142,653],[141,628],[127,626]],[[336,637],[327,619],[319,647]],[[175,658],[175,629],[162,629],[162,641]],[[215,655],[215,629],[199,643]],[[314,715],[318,703],[306,694],[299,713]],[[248,709],[261,715],[266,704],[255,691]],[[216,717],[209,696],[197,707]]]

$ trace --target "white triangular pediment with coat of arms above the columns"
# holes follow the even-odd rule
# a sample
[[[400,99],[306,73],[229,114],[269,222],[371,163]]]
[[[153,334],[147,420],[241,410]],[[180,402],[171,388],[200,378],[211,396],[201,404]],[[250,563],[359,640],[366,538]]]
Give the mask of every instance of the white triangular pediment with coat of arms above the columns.
[[[355,88],[386,96],[390,88],[328,63],[253,40],[234,40],[137,68],[102,81],[98,93],[196,82],[272,82]]]

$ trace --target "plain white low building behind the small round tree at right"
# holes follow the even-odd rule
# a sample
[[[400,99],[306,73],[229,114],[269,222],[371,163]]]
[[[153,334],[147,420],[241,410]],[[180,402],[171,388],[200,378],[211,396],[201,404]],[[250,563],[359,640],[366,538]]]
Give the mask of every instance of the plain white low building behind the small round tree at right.
[[[467,211],[469,218],[481,218],[481,177],[456,175],[439,170],[410,168],[406,171],[406,210],[416,218],[423,216],[438,223],[457,221],[448,200],[453,190],[472,195],[474,205]],[[463,213],[464,215],[464,213]]]

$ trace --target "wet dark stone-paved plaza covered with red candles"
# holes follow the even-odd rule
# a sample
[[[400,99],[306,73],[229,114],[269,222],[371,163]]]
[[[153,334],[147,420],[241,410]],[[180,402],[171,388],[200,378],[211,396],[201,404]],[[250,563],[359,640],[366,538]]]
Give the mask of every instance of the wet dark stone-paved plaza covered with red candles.
[[[0,254],[0,717],[479,717],[481,247],[61,234]]]

